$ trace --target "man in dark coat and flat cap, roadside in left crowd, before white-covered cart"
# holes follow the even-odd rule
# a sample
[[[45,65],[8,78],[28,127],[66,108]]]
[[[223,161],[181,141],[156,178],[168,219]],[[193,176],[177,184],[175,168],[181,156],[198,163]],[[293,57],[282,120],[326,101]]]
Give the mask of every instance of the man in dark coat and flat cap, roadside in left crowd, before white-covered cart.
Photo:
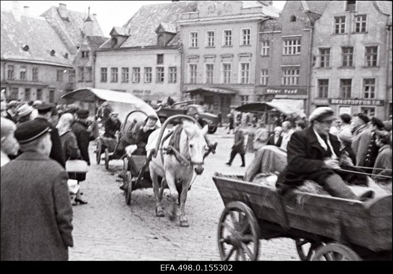
[[[77,137],[78,147],[81,151],[83,160],[90,165],[89,157],[89,142],[90,133],[88,132],[87,118],[89,117],[88,110],[78,110],[76,112],[76,122],[72,125],[71,129]],[[79,181],[83,181],[85,178],[78,178]]]

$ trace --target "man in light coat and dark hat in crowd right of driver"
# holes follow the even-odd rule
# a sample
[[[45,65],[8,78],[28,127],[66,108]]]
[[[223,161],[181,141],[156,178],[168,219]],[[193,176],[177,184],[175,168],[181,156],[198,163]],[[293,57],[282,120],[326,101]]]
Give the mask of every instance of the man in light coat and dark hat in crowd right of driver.
[[[352,149],[356,155],[356,165],[365,166],[368,144],[372,133],[368,126],[370,119],[363,113],[359,113],[352,119],[351,126],[354,130],[352,139]]]

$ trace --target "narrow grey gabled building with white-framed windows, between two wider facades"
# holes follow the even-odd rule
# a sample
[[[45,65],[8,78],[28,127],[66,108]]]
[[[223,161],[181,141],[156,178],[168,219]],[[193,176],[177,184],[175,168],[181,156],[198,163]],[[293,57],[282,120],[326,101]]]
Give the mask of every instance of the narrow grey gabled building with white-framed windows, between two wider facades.
[[[255,70],[258,101],[286,99],[308,112],[312,28],[328,3],[286,1],[278,19],[260,24]]]

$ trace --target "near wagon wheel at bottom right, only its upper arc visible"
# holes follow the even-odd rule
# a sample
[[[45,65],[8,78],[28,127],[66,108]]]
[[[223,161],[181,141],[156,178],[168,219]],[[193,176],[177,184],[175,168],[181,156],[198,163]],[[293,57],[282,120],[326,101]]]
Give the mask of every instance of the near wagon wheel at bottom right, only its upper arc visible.
[[[341,244],[327,244],[315,250],[311,261],[362,261],[351,248]]]

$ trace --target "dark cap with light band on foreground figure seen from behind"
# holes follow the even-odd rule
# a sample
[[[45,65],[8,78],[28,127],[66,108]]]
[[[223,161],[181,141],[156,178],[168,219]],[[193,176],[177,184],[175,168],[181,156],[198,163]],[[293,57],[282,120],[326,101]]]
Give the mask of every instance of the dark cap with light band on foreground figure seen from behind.
[[[32,120],[18,125],[15,131],[15,138],[20,144],[26,144],[48,132],[51,132],[48,124],[39,120]]]

